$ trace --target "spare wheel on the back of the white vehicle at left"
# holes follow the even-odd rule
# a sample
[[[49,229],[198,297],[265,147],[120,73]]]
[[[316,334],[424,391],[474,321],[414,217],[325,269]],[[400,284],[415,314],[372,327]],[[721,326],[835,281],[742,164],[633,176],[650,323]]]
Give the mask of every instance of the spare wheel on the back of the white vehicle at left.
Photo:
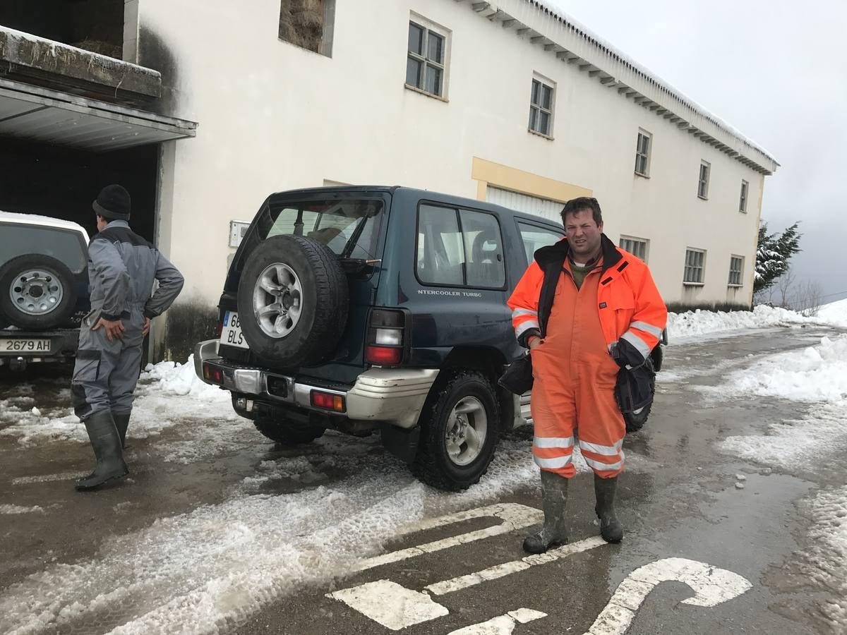
[[[76,299],[74,274],[56,258],[27,254],[0,268],[0,313],[19,329],[54,329],[67,323]]]

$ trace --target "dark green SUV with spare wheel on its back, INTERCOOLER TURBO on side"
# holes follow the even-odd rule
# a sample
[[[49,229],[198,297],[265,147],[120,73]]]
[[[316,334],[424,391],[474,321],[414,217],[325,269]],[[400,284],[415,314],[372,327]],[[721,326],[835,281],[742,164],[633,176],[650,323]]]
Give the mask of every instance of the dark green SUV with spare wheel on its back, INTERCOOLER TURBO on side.
[[[280,443],[379,432],[440,489],[479,481],[529,395],[497,385],[518,357],[506,306],[562,225],[403,187],[273,194],[235,253],[220,337],[197,374]]]

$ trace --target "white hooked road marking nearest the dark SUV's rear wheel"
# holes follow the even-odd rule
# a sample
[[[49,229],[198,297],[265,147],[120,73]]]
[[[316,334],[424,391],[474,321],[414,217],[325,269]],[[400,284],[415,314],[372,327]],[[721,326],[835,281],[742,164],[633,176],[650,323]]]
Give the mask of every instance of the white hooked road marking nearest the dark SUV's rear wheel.
[[[462,533],[458,536],[451,536],[442,540],[435,540],[431,543],[418,544],[416,547],[408,549],[400,549],[392,551],[388,554],[377,555],[373,558],[368,558],[360,562],[353,572],[363,572],[368,569],[373,569],[374,566],[387,565],[391,562],[399,562],[407,560],[418,555],[431,554],[441,549],[457,547],[460,544],[472,543],[475,540],[499,536],[502,533],[509,533],[516,529],[523,529],[535,525],[544,520],[544,512],[528,507],[527,505],[518,505],[517,503],[501,503],[499,505],[487,505],[485,507],[477,507],[473,510],[460,511],[456,514],[448,514],[447,516],[439,516],[437,518],[429,518],[421,522],[415,522],[405,527],[401,527],[398,535],[405,536],[410,533],[422,532],[435,527],[444,527],[455,522],[468,521],[472,518],[484,518],[493,516],[500,518],[503,522],[492,527],[485,527],[473,532]]]

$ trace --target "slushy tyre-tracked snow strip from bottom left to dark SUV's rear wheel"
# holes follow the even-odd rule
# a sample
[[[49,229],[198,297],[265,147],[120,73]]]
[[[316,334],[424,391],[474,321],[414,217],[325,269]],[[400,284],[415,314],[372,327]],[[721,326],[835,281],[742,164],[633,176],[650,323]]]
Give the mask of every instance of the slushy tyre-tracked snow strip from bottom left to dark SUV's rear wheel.
[[[357,444],[334,447],[335,460],[344,460],[342,448],[357,452]],[[400,461],[367,453],[351,460],[356,469],[339,483],[284,495],[241,493],[112,538],[96,560],[50,566],[5,589],[0,632],[97,624],[106,612],[135,616],[120,626],[101,624],[112,632],[213,632],[272,599],[355,571],[430,508],[465,510],[538,482],[529,439],[501,444],[484,482],[461,494],[418,483]],[[261,468],[263,475],[314,472],[297,457]]]

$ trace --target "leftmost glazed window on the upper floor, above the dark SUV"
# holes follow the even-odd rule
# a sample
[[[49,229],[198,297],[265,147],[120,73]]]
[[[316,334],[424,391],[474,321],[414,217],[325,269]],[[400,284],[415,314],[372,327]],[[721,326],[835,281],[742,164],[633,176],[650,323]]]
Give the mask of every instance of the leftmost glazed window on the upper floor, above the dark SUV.
[[[447,41],[446,30],[412,16],[409,20],[406,86],[435,97],[445,97]]]

